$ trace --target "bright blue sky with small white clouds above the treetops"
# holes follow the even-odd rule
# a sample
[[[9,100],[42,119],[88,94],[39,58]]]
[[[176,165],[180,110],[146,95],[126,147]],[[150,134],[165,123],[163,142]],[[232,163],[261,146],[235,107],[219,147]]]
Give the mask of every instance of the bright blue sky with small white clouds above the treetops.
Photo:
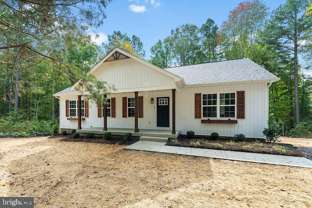
[[[97,44],[107,42],[107,35],[114,31],[136,35],[143,42],[146,59],[150,49],[160,39],[170,35],[172,29],[183,24],[200,27],[208,18],[214,19],[220,28],[231,10],[242,0],[113,0],[106,7],[107,19],[103,26],[94,30]],[[270,12],[286,0],[262,0]],[[95,34],[93,34],[95,37]]]

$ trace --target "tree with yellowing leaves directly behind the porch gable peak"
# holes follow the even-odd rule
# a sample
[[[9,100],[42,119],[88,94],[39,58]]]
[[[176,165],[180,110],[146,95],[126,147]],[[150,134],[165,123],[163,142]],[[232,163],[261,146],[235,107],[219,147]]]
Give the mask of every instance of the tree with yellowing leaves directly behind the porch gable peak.
[[[106,54],[117,47],[137,57],[145,57],[143,43],[137,36],[133,35],[131,39],[126,33],[122,34],[120,31],[114,31],[113,34],[108,35],[107,38],[108,43],[102,43],[102,47],[104,48]]]

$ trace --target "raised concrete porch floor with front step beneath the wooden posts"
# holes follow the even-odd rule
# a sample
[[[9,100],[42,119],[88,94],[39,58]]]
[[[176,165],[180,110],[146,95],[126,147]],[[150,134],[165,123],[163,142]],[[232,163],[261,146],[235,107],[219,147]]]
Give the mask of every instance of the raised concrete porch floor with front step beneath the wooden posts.
[[[86,129],[76,130],[79,133],[93,132],[94,134],[103,134],[105,132],[111,132],[113,135],[125,135],[125,133],[132,133],[133,136],[152,136],[152,137],[166,137],[174,139],[180,135],[180,131],[176,130],[176,134],[172,134],[172,130],[161,129],[139,129],[139,132],[135,132],[134,129],[126,128],[107,128],[107,131],[103,131],[102,127],[91,127]]]

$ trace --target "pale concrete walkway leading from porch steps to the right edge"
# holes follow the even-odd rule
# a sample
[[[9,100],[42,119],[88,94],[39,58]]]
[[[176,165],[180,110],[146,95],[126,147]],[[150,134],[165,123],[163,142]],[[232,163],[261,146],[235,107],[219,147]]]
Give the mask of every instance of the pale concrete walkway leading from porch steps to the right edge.
[[[293,157],[275,154],[260,154],[242,151],[224,151],[189,147],[165,146],[166,142],[138,141],[125,149],[156,151],[172,154],[184,154],[198,157],[212,157],[227,160],[239,160],[255,163],[268,163],[275,165],[296,166],[312,168],[312,160],[304,157]]]

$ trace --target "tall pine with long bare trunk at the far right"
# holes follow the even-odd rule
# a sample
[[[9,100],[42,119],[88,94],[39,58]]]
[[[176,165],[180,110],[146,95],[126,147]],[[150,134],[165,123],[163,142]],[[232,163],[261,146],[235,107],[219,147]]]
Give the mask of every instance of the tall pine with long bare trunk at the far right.
[[[263,38],[267,44],[293,58],[295,123],[299,124],[298,53],[303,52],[312,37],[312,17],[306,16],[307,0],[287,0],[266,22]]]

